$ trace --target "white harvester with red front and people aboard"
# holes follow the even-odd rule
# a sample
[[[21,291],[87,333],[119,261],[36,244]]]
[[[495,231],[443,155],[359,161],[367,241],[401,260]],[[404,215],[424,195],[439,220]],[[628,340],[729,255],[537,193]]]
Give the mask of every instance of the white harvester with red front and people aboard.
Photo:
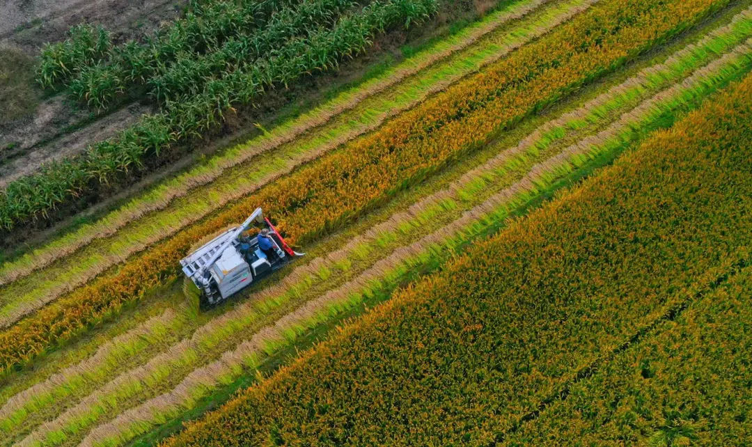
[[[259,248],[259,236],[243,236],[252,223],[268,229],[271,250]],[[180,266],[199,288],[202,302],[214,305],[302,255],[287,245],[263,216],[261,208],[256,208],[240,226],[225,231],[180,260]]]

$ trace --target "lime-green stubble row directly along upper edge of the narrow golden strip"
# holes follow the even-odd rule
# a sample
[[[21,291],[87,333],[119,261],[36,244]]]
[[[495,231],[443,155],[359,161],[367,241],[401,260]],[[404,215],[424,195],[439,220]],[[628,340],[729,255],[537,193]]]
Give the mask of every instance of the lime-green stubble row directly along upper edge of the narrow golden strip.
[[[571,4],[559,5],[559,8],[547,11],[550,14],[544,14],[543,19],[557,23],[562,19],[562,14],[571,17],[578,10],[566,8],[567,6],[581,3],[575,0]],[[502,36],[505,36],[505,33],[502,33]],[[457,54],[447,61],[446,65],[423,71],[417,78],[405,80],[399,87],[393,86],[389,93],[369,99],[353,108],[351,112],[330,120],[328,125],[314,134],[303,135],[290,144],[284,144],[279,148],[281,153],[274,154],[274,158],[238,166],[231,172],[225,170],[221,178],[212,181],[207,187],[190,190],[190,196],[172,202],[159,214],[142,216],[117,233],[116,237],[90,245],[56,266],[8,285],[0,290],[0,325],[7,326],[17,321],[23,315],[55,300],[62,293],[85,284],[100,272],[171,236],[180,228],[200,220],[226,203],[240,199],[311,158],[320,157],[324,152],[331,151],[369,129],[374,129],[387,117],[410,108],[432,93],[444,90],[447,85],[467,74],[473,67],[501,58],[511,50],[506,44],[506,39],[502,42],[500,47],[497,44],[483,45],[468,50],[468,53]],[[517,40],[514,42],[515,45],[520,44]],[[358,122],[353,123],[353,120]],[[228,156],[224,156],[226,157]],[[240,158],[233,157],[232,163],[238,163]],[[204,172],[202,169],[199,171]],[[174,191],[167,190],[169,193]],[[175,190],[185,192],[183,188]]]

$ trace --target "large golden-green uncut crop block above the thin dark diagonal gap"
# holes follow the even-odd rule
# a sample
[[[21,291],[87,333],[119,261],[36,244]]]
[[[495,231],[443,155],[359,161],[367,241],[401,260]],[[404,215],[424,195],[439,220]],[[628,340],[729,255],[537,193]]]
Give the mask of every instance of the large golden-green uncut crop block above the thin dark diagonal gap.
[[[749,256],[750,144],[752,77],[163,445],[498,440]]]

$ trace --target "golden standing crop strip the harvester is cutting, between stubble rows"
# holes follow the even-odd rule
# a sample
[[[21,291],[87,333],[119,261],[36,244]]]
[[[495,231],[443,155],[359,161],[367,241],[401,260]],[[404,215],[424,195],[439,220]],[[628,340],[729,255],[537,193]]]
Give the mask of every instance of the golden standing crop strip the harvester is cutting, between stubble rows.
[[[280,228],[291,239],[310,239],[388,199],[395,190],[483,144],[503,126],[622,65],[723,5],[726,2],[711,0],[600,3],[368,138],[317,160],[159,245],[123,266],[114,277],[83,287],[0,333],[3,369],[34,357],[87,324],[117,312],[149,287],[173,278],[174,263],[190,245],[249,214],[250,208],[261,205],[279,216]],[[341,191],[346,194],[336,196]]]

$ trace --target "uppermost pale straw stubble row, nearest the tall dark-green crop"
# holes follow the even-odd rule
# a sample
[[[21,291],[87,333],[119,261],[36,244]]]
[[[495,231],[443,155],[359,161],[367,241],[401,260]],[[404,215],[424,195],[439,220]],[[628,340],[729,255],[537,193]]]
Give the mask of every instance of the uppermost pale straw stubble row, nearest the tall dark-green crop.
[[[17,260],[8,261],[0,265],[0,285],[8,284],[18,278],[23,278],[29,273],[53,263],[61,257],[68,256],[80,248],[88,245],[96,239],[102,239],[113,235],[127,223],[137,220],[144,214],[159,211],[167,206],[172,200],[186,195],[196,187],[210,183],[220,178],[227,170],[240,163],[251,160],[259,154],[273,151],[280,145],[290,143],[306,132],[311,132],[320,126],[326,125],[331,120],[339,117],[347,111],[356,108],[366,99],[391,89],[407,78],[420,73],[426,68],[432,67],[438,62],[444,61],[449,56],[472,46],[490,32],[499,29],[511,21],[519,20],[532,11],[536,11],[541,5],[550,0],[529,0],[515,4],[508,10],[490,14],[476,25],[468,26],[462,32],[442,40],[423,50],[396,68],[387,71],[371,81],[366,81],[362,86],[356,87],[345,93],[341,93],[336,99],[332,99],[314,111],[304,114],[295,120],[276,126],[252,141],[238,145],[226,154],[214,157],[206,166],[199,166],[190,172],[180,175],[179,178],[162,184],[145,196],[135,199],[128,205],[119,208],[108,216],[103,217],[97,223],[85,225],[74,233],[62,236],[55,241],[44,245],[42,248],[24,254]],[[514,35],[519,35],[520,30],[515,29]],[[536,33],[536,35],[538,35]],[[503,53],[499,51],[499,53]],[[152,241],[155,242],[155,241]]]

